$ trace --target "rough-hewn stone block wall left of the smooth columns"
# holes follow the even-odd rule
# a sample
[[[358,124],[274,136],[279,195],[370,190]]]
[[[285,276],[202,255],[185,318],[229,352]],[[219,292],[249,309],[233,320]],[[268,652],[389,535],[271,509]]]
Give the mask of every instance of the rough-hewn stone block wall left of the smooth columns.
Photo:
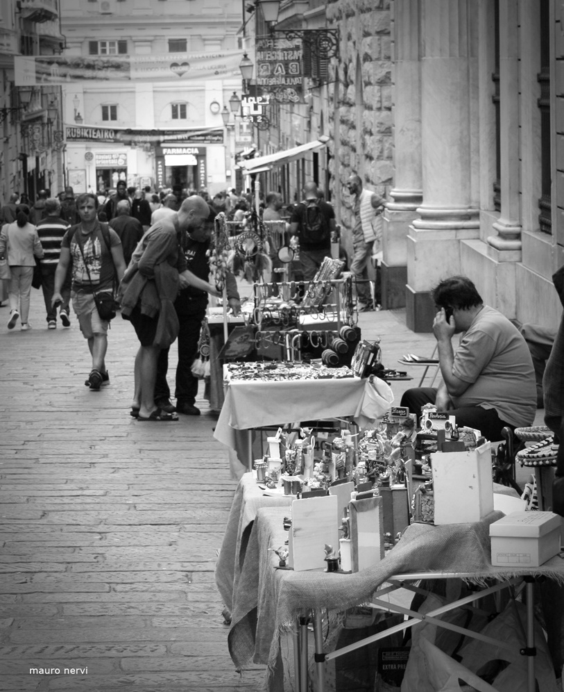
[[[328,0],[327,24],[340,31],[329,84],[329,102],[335,105],[330,108],[332,199],[350,256],[354,224],[348,176],[358,173],[364,187],[380,195],[393,183],[390,1]]]

